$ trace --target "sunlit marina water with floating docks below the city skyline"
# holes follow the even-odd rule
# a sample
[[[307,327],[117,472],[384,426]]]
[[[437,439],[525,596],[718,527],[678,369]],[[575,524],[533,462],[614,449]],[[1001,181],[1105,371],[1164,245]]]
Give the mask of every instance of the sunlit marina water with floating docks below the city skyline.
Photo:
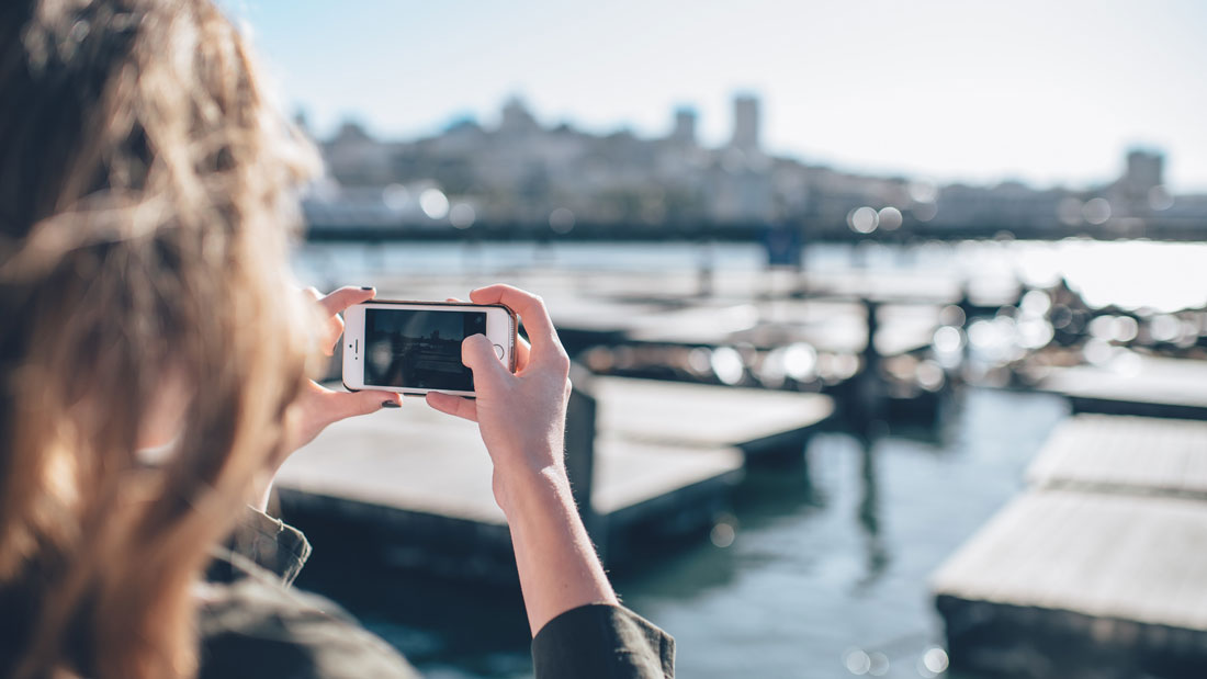
[[[384,298],[463,295],[494,280],[542,294],[578,363],[567,466],[581,511],[626,603],[686,631],[684,675],[832,678],[876,667],[874,675],[932,677],[950,660],[946,675],[957,679],[997,677],[993,662],[1005,661],[1039,678],[1079,657],[1079,668],[1118,666],[1130,679],[1156,672],[1143,660],[1155,656],[1170,666],[1153,675],[1193,675],[1177,672],[1199,657],[1197,624],[1148,587],[1151,578],[1199,583],[1184,564],[1143,556],[1199,539],[1183,531],[1203,493],[1191,421],[1201,417],[1199,335],[1173,347],[1159,327],[1177,318],[1189,332],[1196,311],[1177,306],[1184,295],[1095,310],[1085,300],[1109,293],[1092,281],[1073,275],[1075,292],[1045,287],[1068,271],[1002,267],[975,250],[937,256],[962,246],[858,256],[822,247],[803,271],[762,269],[757,250],[741,247],[715,247],[715,265],[701,269],[696,246],[642,269],[647,247],[660,246],[616,246],[589,262],[575,247],[536,246],[508,262],[448,246],[433,259],[443,264],[425,270],[430,244],[404,256],[416,268],[387,244],[340,270]],[[1034,247],[1018,250],[1033,262]],[[339,251],[322,254],[325,270],[336,270]],[[675,262],[670,252],[659,257]],[[1066,315],[1077,324],[1056,328]],[[1131,321],[1116,321],[1124,315]],[[1101,335],[1100,317],[1138,330]],[[1095,343],[1109,346],[1109,361]],[[320,438],[282,470],[281,507],[316,546],[303,585],[338,596],[427,669],[455,656],[455,667],[473,669],[450,677],[525,677],[523,638],[483,645],[453,626],[408,622],[397,608],[465,591],[463,610],[497,616],[517,596],[485,451],[472,425],[424,408],[408,400],[361,432],[333,428],[332,440],[375,451],[344,456],[348,469],[330,462],[343,447]],[[409,452],[385,460],[396,443]],[[1002,523],[998,511],[1020,522]],[[1100,544],[1120,516],[1139,540],[1118,543],[1131,556]],[[1067,532],[1083,535],[1075,549],[1050,555]],[[1201,551],[1185,549],[1186,558]],[[334,579],[349,558],[367,581],[415,585],[400,585],[400,599],[360,598]],[[985,590],[978,576],[998,572],[978,558],[1024,569],[1036,591],[1009,578]],[[1045,564],[1062,580],[1044,580]],[[1102,569],[1114,575],[1088,575]],[[1062,593],[1069,580],[1085,587]],[[701,622],[716,617],[704,613],[710,605],[728,611],[723,621]],[[805,621],[818,619],[846,622]],[[782,645],[754,661],[724,652],[724,639],[769,622],[807,639],[809,657],[830,660],[801,672]],[[985,643],[986,631],[1001,645]],[[430,640],[416,645],[414,634]]]

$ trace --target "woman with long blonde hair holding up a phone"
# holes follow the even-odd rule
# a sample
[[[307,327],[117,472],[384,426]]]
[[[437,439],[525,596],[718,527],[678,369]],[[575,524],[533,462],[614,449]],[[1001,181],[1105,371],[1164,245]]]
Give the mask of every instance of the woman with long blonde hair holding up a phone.
[[[313,153],[241,37],[209,0],[8,0],[0,93],[0,675],[413,675],[286,587],[303,538],[244,516],[326,425],[400,402],[307,379],[373,293],[288,292]],[[515,309],[531,350],[512,374],[470,338],[479,398],[428,404],[479,423],[537,675],[672,675],[570,501],[548,314],[507,286],[471,299]]]

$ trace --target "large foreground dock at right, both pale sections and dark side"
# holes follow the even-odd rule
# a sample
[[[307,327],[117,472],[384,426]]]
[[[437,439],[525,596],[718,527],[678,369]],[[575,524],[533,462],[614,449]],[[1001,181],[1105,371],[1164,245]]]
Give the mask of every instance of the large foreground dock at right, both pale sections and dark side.
[[[1207,667],[1207,423],[1075,415],[933,578],[952,666],[1165,679]]]

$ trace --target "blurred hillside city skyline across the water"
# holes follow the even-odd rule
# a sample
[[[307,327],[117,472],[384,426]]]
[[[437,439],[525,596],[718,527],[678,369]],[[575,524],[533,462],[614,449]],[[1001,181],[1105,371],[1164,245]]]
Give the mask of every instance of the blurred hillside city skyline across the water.
[[[718,148],[700,145],[689,106],[654,139],[546,124],[518,96],[492,128],[465,118],[410,141],[378,140],[349,122],[320,144],[330,177],[305,201],[307,216],[328,228],[489,224],[600,235],[789,224],[821,238],[868,228],[939,238],[1207,236],[1207,197],[1170,195],[1159,151],[1130,151],[1118,181],[1088,191],[934,186],[774,156],[762,147],[758,98],[736,95],[733,111],[730,141]],[[884,229],[879,219],[855,224],[861,207],[887,215]]]

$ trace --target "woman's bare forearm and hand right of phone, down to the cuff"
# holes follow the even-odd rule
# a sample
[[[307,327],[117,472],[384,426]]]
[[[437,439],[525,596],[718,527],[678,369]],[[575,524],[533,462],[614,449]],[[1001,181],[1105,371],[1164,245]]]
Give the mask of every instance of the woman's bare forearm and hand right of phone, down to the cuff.
[[[517,346],[512,374],[484,335],[466,338],[461,361],[473,370],[477,400],[433,392],[427,403],[478,422],[495,463],[495,499],[507,515],[529,626],[536,634],[572,608],[617,603],[575,508],[562,461],[570,358],[535,294],[496,285],[471,292],[470,299],[519,312],[532,346]]]

